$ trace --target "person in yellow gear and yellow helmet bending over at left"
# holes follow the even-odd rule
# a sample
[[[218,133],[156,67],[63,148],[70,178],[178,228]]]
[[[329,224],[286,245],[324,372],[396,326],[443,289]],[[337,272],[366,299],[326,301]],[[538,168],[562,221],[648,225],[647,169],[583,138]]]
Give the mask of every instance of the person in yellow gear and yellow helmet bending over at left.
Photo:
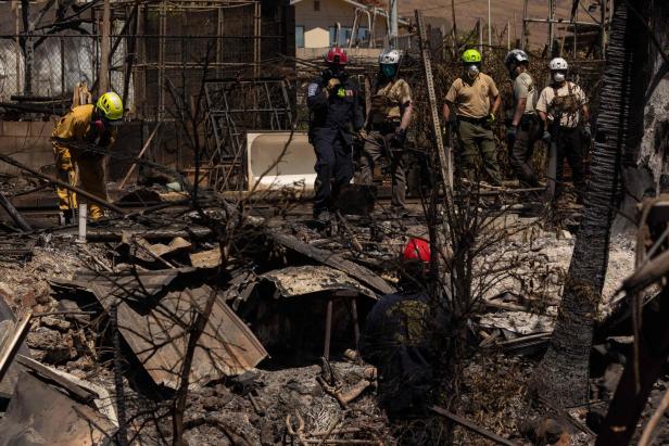
[[[77,184],[75,164],[78,166],[78,180],[81,189],[106,200],[104,181],[104,155],[87,150],[87,145],[109,149],[116,140],[116,128],[123,118],[123,102],[114,92],[104,93],[93,104],[75,106],[63,116],[53,133],[53,153],[59,179],[72,186]],[[77,207],[77,196],[65,188],[56,188],[59,207],[66,216]],[[89,204],[91,219],[102,217],[102,208]]]

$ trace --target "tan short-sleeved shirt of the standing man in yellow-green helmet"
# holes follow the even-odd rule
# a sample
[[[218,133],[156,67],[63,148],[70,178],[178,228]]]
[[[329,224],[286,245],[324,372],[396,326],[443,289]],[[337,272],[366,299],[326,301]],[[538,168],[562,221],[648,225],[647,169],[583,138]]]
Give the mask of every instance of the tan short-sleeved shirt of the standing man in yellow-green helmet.
[[[465,81],[458,77],[446,93],[446,102],[455,105],[458,116],[482,118],[490,114],[490,97],[497,97],[500,91],[492,77],[484,73],[474,79]]]

